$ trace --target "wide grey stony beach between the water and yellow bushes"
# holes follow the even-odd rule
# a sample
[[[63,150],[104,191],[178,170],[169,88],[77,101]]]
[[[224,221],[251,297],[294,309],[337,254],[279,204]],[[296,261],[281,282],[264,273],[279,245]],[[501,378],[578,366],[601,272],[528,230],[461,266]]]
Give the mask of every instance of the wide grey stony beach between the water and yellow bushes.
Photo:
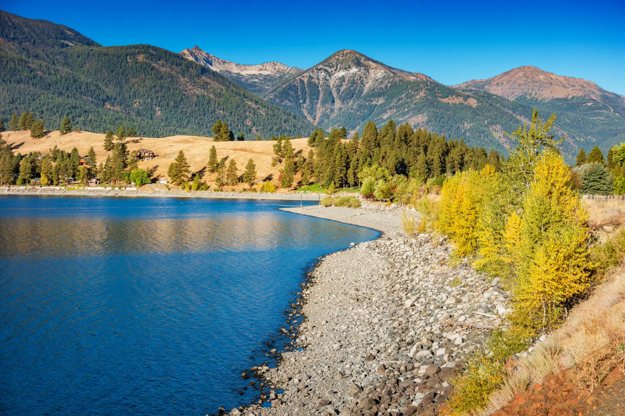
[[[284,210],[382,235],[321,259],[282,329],[293,351],[277,368],[252,367],[261,397],[229,414],[436,414],[468,354],[502,325],[508,294],[466,259],[452,266],[444,241],[402,235],[397,207]]]

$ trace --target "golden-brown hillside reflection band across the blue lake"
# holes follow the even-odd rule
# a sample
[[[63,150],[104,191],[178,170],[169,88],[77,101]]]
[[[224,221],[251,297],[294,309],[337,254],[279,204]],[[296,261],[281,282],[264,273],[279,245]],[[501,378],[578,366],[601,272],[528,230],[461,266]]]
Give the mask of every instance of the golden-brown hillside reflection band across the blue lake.
[[[339,232],[333,221],[279,218],[274,213],[234,218],[0,218],[0,250],[7,256],[166,254],[177,251],[297,249]]]

